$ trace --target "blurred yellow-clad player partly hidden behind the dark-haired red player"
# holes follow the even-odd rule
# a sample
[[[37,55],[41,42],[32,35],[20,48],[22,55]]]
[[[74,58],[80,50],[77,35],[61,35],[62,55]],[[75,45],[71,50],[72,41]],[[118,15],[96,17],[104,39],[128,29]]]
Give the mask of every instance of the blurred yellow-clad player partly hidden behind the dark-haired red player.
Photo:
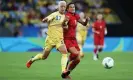
[[[80,12],[79,16],[83,21],[85,21],[85,14],[83,12]],[[80,47],[80,57],[81,58],[84,57],[82,47],[83,47],[84,42],[87,37],[88,28],[89,28],[89,23],[86,26],[82,25],[81,23],[77,24],[76,39],[77,39],[78,45]]]

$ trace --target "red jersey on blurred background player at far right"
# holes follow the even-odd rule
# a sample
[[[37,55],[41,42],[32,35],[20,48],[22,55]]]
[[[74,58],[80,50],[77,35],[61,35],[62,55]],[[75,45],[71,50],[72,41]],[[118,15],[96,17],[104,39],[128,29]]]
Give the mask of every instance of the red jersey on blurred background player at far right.
[[[97,20],[97,21],[94,22],[93,28],[94,28],[96,31],[100,32],[100,35],[104,35],[105,28],[106,28],[106,23],[105,23],[104,20],[102,20],[102,21],[98,21],[98,20]],[[96,33],[95,33],[95,34],[96,34]]]

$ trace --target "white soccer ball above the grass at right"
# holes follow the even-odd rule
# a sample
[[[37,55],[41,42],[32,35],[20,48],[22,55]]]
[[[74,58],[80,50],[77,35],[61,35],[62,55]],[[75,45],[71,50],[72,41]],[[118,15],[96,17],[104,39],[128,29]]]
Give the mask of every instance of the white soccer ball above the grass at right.
[[[102,64],[106,69],[111,69],[114,66],[114,60],[111,57],[105,57]]]

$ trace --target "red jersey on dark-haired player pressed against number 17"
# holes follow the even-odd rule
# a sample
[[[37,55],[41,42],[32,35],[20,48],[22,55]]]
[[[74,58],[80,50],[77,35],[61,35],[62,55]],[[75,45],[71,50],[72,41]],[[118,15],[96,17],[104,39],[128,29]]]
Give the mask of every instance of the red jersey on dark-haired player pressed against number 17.
[[[69,21],[68,21],[68,29],[64,28],[64,39],[75,38],[76,37],[77,21],[80,19],[80,17],[78,14],[73,14],[70,12],[67,12],[66,16],[69,17]]]

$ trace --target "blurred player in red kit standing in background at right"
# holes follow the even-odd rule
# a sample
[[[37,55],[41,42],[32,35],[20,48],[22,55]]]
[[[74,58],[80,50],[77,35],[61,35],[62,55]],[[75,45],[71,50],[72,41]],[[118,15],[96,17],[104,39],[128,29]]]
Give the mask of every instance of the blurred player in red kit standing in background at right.
[[[94,32],[94,60],[98,60],[98,53],[103,50],[104,45],[104,35],[107,34],[106,23],[103,20],[102,14],[97,14],[97,20],[93,24],[93,32]]]

